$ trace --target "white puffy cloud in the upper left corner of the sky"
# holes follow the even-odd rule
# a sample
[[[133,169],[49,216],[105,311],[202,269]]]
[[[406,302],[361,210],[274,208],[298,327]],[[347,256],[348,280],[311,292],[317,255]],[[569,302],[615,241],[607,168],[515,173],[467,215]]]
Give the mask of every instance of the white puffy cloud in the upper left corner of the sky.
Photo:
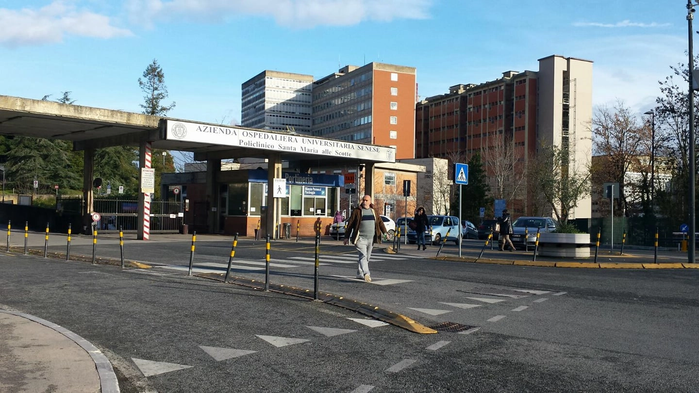
[[[76,10],[64,1],[53,1],[38,9],[0,8],[0,45],[4,46],[57,43],[64,36],[112,38],[131,35],[127,29],[114,27],[109,17]]]

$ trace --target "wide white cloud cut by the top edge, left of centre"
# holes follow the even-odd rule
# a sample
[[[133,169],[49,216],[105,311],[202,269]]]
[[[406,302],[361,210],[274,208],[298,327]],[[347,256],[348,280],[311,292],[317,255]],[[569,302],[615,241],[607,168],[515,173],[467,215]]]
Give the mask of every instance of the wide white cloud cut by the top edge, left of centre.
[[[212,20],[259,15],[296,28],[348,26],[365,20],[425,19],[433,0],[129,0],[132,20],[152,25],[158,18]]]

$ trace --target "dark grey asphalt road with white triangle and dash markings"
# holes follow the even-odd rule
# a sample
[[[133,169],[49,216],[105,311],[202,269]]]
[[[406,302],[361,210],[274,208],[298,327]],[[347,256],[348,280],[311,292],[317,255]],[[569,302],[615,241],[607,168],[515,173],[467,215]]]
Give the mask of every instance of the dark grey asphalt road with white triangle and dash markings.
[[[224,272],[231,239],[199,238],[194,273]],[[340,244],[322,241],[320,290],[474,329],[370,327],[343,308],[187,276],[191,241],[177,236],[124,244],[152,269],[0,255],[0,303],[91,341],[124,392],[696,392],[697,269],[469,264],[409,245],[375,252],[363,283]],[[113,240],[97,247],[119,257]],[[231,274],[264,279],[251,270],[264,255],[241,239]],[[314,259],[312,243],[273,243],[271,282],[312,289]]]

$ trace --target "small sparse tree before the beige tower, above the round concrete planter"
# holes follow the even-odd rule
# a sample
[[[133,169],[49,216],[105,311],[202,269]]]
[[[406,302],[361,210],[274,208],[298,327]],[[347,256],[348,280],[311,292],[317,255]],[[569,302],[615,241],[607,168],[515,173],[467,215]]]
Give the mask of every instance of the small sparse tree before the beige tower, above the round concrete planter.
[[[575,165],[575,164],[574,164]],[[568,225],[570,210],[590,192],[589,166],[570,166],[568,153],[552,145],[542,145],[536,157],[529,160],[527,172],[538,185],[556,219]]]

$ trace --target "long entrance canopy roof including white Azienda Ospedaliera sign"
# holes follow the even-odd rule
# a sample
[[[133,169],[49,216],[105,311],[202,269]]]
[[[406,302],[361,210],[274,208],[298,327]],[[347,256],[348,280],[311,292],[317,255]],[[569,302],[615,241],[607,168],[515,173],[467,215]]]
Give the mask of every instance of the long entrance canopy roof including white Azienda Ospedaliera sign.
[[[2,95],[0,134],[72,141],[75,150],[152,141],[156,149],[193,152],[198,161],[276,152],[284,161],[314,166],[396,162],[396,149],[387,146]]]

